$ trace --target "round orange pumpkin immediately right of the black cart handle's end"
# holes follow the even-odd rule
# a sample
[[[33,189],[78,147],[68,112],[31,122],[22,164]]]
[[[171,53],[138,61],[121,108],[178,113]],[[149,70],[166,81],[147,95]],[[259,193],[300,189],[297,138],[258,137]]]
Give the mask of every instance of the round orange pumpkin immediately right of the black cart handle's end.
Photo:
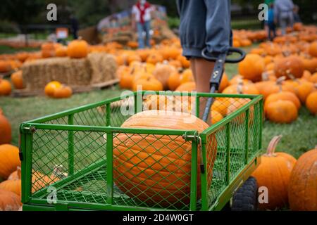
[[[264,68],[264,60],[257,54],[248,54],[246,58],[244,58],[244,60],[238,65],[240,75],[242,75],[242,77],[245,79],[250,79],[253,82],[261,80],[261,75],[264,71]]]

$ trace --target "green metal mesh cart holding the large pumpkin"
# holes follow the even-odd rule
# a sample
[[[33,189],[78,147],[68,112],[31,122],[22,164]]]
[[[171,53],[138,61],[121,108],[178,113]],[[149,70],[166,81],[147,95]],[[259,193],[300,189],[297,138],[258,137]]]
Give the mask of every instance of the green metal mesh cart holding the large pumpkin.
[[[202,98],[213,97],[221,103],[227,102],[227,106],[230,105],[228,101],[244,101],[244,104],[200,134],[191,130],[120,127],[131,112],[144,110],[147,94],[146,91],[131,92],[124,98],[112,98],[21,124],[23,210],[221,210],[260,163],[262,96],[154,92],[180,98],[190,96],[194,99],[197,116]],[[130,114],[122,113],[122,108]],[[118,188],[119,178],[124,175],[118,175],[114,166],[116,155],[113,152],[119,134],[126,135],[130,141],[131,136],[144,139],[156,136],[158,140],[164,137],[170,142],[182,137],[184,141],[178,141],[178,147],[190,144],[191,160],[187,162],[190,170],[185,172],[190,184],[184,184],[190,188],[184,193],[189,201],[171,201],[158,191],[162,202],[154,203],[152,195],[140,200]],[[206,151],[215,144],[213,141],[217,145],[216,155],[213,155],[216,160],[209,164]],[[154,148],[154,145],[149,143],[149,147]],[[174,153],[173,149],[170,151]],[[199,162],[205,171],[199,169]],[[137,174],[131,179],[138,179]],[[153,187],[157,188],[160,181],[153,181]],[[173,185],[172,182],[170,186],[175,188]],[[176,198],[173,193],[170,196]]]

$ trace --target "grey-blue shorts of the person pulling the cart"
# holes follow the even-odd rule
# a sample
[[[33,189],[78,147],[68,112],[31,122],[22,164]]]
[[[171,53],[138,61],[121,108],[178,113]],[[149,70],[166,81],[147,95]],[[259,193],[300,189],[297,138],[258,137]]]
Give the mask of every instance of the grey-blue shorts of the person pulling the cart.
[[[180,41],[183,56],[202,58],[209,53],[223,53],[232,46],[230,0],[178,0]]]

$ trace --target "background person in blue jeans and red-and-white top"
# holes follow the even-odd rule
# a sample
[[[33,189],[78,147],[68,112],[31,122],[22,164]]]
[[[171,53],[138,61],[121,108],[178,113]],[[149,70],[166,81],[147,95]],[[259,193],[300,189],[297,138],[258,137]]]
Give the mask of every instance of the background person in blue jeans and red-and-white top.
[[[151,47],[151,11],[152,7],[146,0],[139,0],[137,4],[132,7],[132,29],[137,28],[139,49],[144,49],[144,36],[145,32],[145,45]]]

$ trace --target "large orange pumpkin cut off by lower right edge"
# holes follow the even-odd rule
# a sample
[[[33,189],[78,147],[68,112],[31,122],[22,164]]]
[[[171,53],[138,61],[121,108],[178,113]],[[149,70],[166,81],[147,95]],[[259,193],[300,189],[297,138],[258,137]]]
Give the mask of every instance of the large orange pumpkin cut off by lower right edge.
[[[317,211],[317,146],[304,153],[290,176],[288,198],[294,211]]]

